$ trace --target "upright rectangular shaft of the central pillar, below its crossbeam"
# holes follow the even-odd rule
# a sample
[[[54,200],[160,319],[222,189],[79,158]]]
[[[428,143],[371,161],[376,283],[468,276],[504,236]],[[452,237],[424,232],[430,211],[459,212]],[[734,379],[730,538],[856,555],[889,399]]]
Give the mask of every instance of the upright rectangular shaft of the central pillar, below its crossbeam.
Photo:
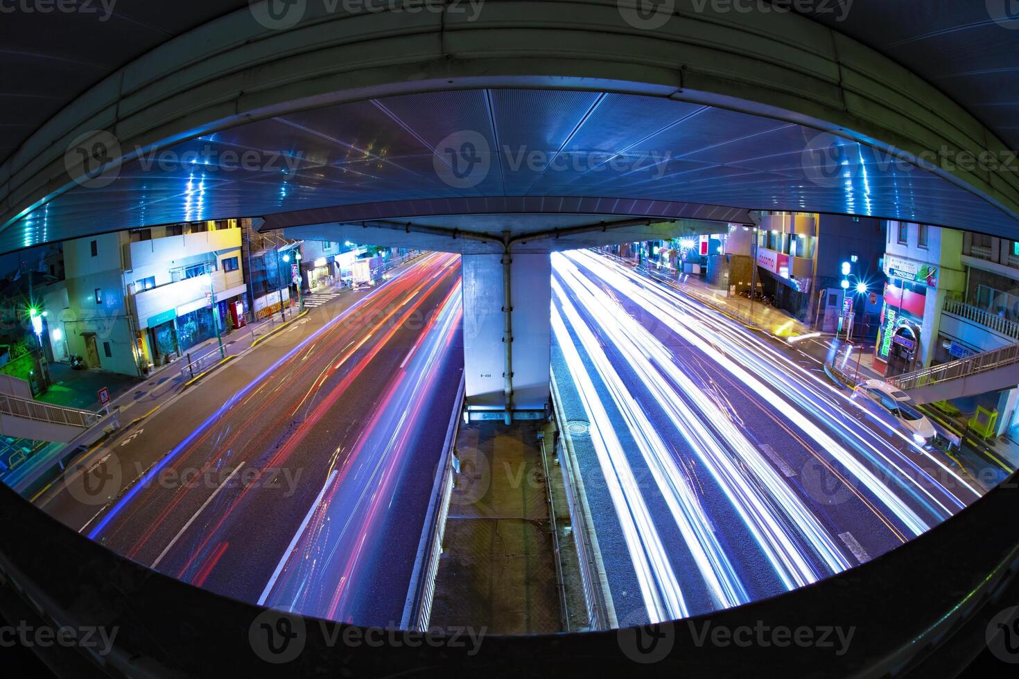
[[[544,410],[549,402],[550,257],[465,254],[462,266],[468,410]]]

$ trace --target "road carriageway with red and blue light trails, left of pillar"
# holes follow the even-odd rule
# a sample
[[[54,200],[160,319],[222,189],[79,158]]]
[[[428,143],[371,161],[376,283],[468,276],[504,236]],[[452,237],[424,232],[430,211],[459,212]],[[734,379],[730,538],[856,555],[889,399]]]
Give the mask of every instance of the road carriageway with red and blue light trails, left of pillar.
[[[267,339],[91,456],[45,509],[236,599],[400,622],[463,373],[460,260]]]

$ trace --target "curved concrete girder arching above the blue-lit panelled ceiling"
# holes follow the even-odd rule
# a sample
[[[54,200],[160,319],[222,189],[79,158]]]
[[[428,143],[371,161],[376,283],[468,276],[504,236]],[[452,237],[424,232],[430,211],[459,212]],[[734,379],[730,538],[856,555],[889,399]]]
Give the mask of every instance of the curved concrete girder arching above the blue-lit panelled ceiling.
[[[477,13],[463,3],[413,13],[308,3],[292,24],[256,3],[168,41],[43,125],[0,166],[0,229],[86,176],[67,152],[97,130],[115,138],[106,167],[116,168],[252,120],[475,88],[624,92],[800,123],[895,158],[929,157],[921,165],[1019,220],[1019,173],[954,162],[1008,148],[890,58],[795,13],[677,0],[647,17],[640,1],[503,0]],[[999,235],[1019,239],[1019,226]]]

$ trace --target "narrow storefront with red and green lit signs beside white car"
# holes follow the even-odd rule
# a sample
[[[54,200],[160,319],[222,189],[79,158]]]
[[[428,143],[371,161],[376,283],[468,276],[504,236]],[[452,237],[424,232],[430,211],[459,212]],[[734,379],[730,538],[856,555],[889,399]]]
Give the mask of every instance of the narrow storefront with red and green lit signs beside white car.
[[[922,366],[922,331],[927,295],[937,287],[937,267],[912,260],[884,258],[884,304],[875,346],[874,367],[892,377]]]

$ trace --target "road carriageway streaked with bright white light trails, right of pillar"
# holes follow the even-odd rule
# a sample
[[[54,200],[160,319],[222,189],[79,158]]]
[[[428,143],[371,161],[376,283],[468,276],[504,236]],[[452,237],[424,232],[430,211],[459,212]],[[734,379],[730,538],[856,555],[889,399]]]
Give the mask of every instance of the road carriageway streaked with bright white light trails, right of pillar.
[[[621,623],[809,584],[978,497],[760,333],[593,252],[552,258],[553,371]]]

